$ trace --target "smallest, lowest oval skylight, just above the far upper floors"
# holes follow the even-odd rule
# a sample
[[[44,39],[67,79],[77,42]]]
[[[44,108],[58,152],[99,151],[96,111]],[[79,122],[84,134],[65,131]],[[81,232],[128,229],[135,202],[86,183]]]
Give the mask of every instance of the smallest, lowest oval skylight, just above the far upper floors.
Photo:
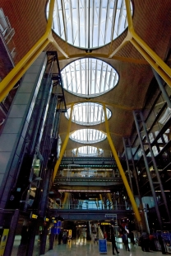
[[[104,153],[103,149],[92,146],[83,146],[80,148],[72,149],[72,153],[77,156],[98,156]]]

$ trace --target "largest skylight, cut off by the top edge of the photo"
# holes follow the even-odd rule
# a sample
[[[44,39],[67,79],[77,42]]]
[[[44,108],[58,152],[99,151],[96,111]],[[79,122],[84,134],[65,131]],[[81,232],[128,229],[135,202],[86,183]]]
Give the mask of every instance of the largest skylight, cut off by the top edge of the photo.
[[[126,28],[125,0],[55,0],[53,31],[76,47],[99,48],[116,39]]]

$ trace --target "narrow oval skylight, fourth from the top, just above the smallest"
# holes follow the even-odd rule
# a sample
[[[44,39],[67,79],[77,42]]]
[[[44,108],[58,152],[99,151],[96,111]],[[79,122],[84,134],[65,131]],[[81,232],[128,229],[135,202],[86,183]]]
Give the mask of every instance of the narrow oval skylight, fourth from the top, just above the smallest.
[[[70,139],[84,144],[93,144],[106,139],[104,132],[96,129],[76,130],[70,135]]]

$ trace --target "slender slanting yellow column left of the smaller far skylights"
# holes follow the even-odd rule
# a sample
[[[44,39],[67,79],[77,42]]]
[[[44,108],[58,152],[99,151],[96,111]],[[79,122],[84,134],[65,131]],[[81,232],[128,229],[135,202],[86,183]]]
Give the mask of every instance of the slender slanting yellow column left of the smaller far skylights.
[[[68,140],[69,140],[70,129],[71,129],[71,125],[72,125],[72,111],[73,111],[73,105],[74,105],[74,104],[72,104],[72,107],[71,107],[70,119],[69,119],[69,123],[68,123],[68,126],[67,126],[67,135],[66,135],[65,140],[64,140],[64,142],[63,142],[62,149],[61,149],[61,152],[60,152],[60,156],[59,156],[59,158],[58,158],[58,161],[57,161],[57,163],[55,164],[55,167],[54,167],[53,180],[54,180],[55,176],[57,175],[59,164],[61,163],[62,156],[63,156],[63,154],[64,154],[64,152],[65,152],[65,149],[66,149],[66,147],[67,147],[67,142],[68,142]]]

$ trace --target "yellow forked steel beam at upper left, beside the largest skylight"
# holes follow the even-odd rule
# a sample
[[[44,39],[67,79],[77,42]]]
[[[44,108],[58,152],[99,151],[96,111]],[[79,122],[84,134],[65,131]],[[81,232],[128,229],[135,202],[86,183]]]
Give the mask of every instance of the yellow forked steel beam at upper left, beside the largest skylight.
[[[42,36],[37,43],[29,50],[29,52],[16,64],[14,69],[2,80],[0,83],[0,102],[7,96],[7,93],[12,90],[18,80],[23,76],[30,65],[34,63],[35,59],[41,54],[47,45],[51,42],[55,48],[62,52],[66,58],[68,57],[66,53],[60,48],[57,42],[53,39],[52,35],[52,24],[53,24],[53,8],[54,1],[50,1],[49,5],[49,19],[46,27],[44,36]]]

